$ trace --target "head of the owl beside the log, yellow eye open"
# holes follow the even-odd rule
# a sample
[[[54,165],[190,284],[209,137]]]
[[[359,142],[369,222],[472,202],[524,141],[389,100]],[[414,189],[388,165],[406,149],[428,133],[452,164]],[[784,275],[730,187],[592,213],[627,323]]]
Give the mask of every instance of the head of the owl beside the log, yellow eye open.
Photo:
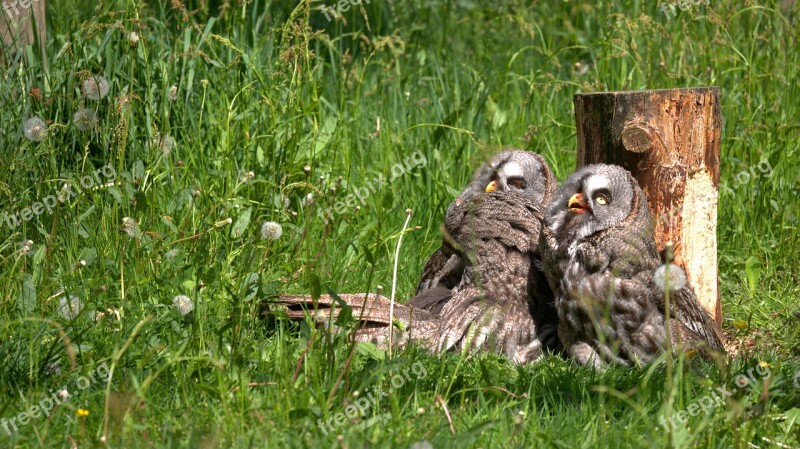
[[[639,184],[622,167],[595,164],[564,182],[548,207],[544,225],[568,241],[579,241],[632,222],[650,222]]]

